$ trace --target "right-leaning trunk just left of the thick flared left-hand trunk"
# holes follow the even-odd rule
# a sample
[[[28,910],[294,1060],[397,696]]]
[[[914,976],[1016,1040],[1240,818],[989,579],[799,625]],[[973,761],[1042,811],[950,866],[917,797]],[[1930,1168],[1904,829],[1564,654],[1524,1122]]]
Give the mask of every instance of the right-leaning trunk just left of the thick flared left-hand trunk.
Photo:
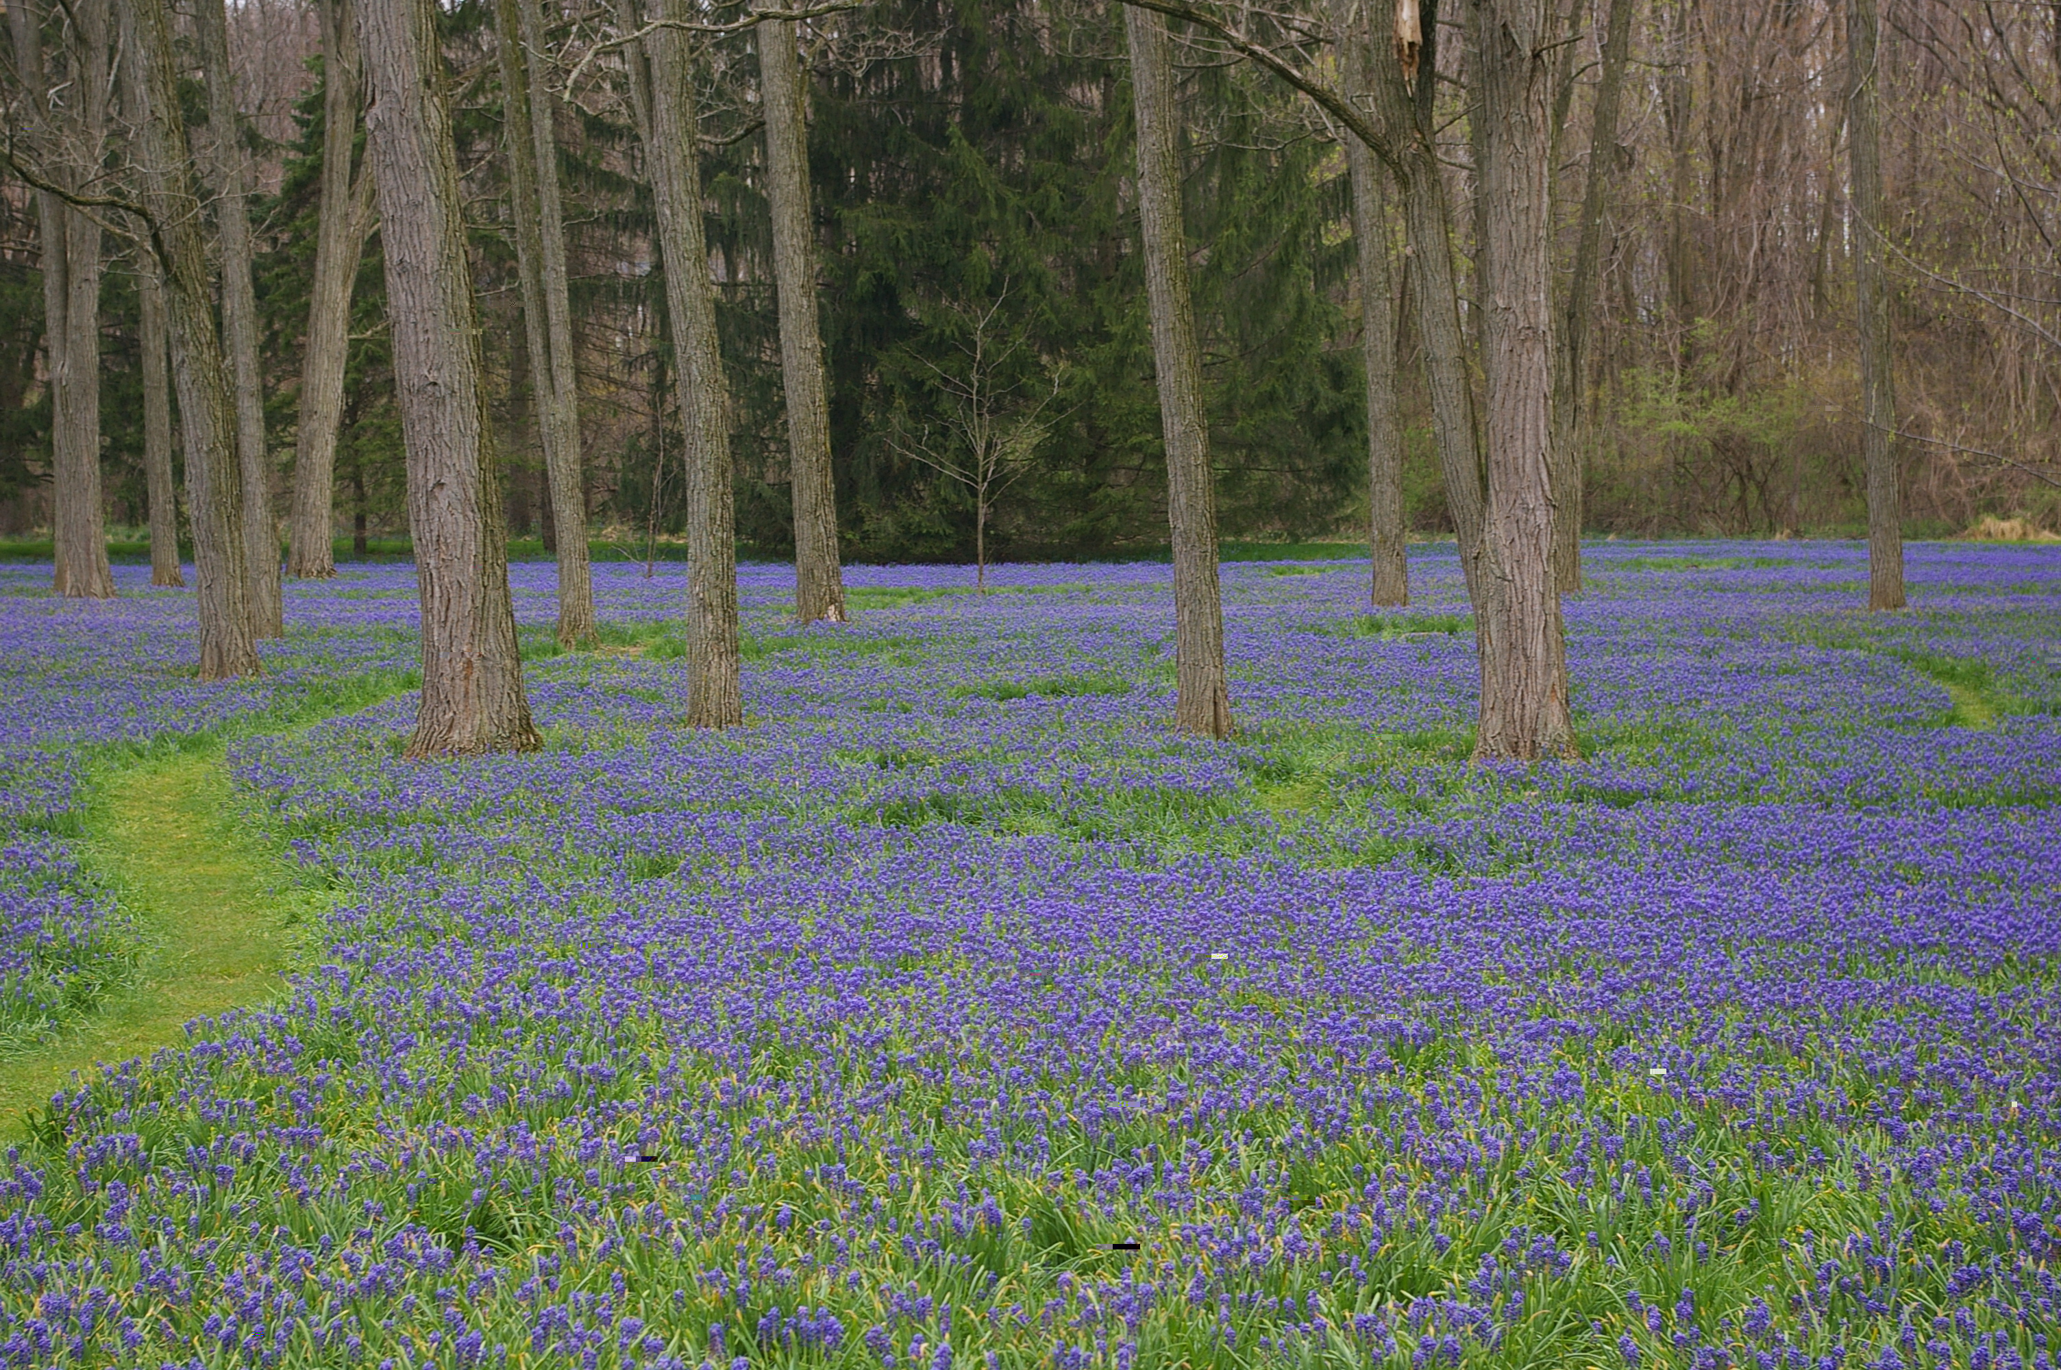
[[[336,435],[350,363],[350,293],[373,222],[371,167],[350,175],[365,72],[348,0],[317,0],[322,16],[322,210],[315,222],[315,280],[307,297],[301,361],[301,418],[293,453],[293,519],[286,575],[336,575]]]

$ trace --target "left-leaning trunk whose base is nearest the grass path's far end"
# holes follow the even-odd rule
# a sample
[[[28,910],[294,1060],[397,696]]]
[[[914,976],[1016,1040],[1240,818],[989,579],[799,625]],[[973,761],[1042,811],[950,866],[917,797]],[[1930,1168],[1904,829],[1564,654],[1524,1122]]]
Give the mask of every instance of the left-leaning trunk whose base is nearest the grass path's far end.
[[[134,107],[138,183],[165,276],[171,375],[185,435],[185,509],[194,525],[194,604],[200,612],[200,678],[227,680],[262,670],[251,637],[249,577],[243,569],[243,482],[237,472],[237,406],[229,393],[223,340],[214,332],[208,253],[200,239],[194,150],[179,109],[179,68],[171,54],[165,0],[124,0],[124,101]]]

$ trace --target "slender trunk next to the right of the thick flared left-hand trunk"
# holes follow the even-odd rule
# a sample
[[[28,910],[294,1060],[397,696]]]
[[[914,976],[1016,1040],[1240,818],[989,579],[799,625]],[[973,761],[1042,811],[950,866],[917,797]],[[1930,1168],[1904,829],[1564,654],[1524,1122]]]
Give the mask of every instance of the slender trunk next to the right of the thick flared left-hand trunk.
[[[559,142],[550,91],[534,60],[544,52],[536,0],[495,0],[495,29],[530,387],[544,441],[550,517],[556,521],[559,645],[592,647],[594,575],[587,569],[587,496],[579,474],[579,375],[573,367],[565,214],[559,204]]]

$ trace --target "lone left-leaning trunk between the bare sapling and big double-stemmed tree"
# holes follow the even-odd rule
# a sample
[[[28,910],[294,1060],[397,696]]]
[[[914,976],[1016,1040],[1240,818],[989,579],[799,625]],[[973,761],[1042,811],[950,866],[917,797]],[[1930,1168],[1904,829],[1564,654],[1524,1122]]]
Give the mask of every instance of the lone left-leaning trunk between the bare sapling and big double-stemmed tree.
[[[1167,439],[1167,513],[1173,523],[1175,727],[1230,735],[1224,606],[1216,575],[1216,484],[1202,412],[1202,352],[1187,290],[1181,165],[1175,150],[1173,54],[1164,21],[1125,6],[1131,95],[1138,107],[1138,220],[1152,307],[1152,371]]]

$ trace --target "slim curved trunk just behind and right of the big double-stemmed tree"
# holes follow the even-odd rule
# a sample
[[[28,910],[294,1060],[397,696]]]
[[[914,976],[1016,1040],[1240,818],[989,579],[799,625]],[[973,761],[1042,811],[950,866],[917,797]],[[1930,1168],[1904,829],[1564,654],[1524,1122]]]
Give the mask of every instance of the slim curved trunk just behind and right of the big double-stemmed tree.
[[[1587,398],[1589,317],[1595,313],[1595,270],[1603,247],[1603,192],[1618,161],[1618,103],[1624,91],[1624,62],[1632,47],[1634,0],[1610,0],[1603,33],[1603,70],[1595,87],[1595,115],[1589,124],[1589,179],[1581,192],[1581,233],[1575,239],[1575,274],[1560,315],[1560,346],[1554,350],[1552,404],[1552,496],[1554,496],[1554,583],[1564,593],[1581,589],[1581,437]]]

